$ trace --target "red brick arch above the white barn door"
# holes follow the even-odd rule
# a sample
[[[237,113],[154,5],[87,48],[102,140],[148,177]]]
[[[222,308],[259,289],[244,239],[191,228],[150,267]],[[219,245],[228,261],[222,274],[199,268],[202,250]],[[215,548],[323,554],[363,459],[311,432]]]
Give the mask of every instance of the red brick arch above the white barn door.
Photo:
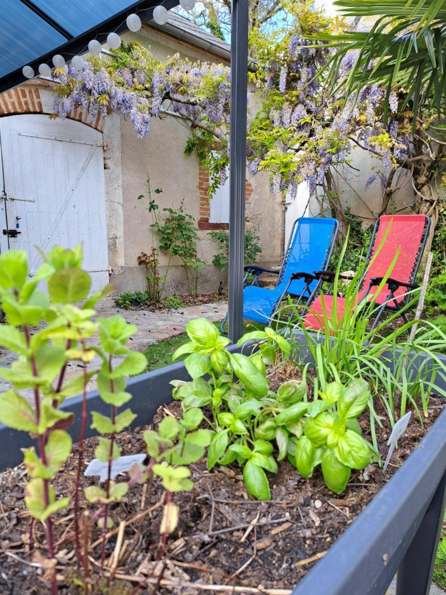
[[[36,84],[37,80],[33,80]],[[47,80],[39,80],[40,86],[49,87]],[[0,94],[0,117],[5,115],[18,114],[43,114],[42,101],[40,101],[40,90],[37,87],[20,86]],[[87,126],[103,131],[103,118],[98,114],[94,122],[89,121],[89,114],[82,106],[74,108],[67,114],[70,120],[77,120]]]

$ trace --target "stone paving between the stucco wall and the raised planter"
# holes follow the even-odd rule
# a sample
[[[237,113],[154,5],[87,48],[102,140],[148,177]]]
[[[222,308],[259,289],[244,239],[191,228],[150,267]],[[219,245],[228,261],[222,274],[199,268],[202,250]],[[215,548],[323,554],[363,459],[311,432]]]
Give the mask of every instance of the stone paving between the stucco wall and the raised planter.
[[[186,324],[193,318],[207,318],[211,321],[222,320],[227,311],[227,302],[215,302],[202,304],[199,306],[186,306],[185,308],[178,309],[165,309],[158,310],[156,312],[149,312],[147,310],[123,310],[117,308],[114,303],[113,297],[106,297],[96,307],[96,314],[100,317],[107,318],[119,314],[127,322],[136,325],[138,328],[137,332],[131,337],[128,342],[128,347],[133,351],[143,352],[153,345],[153,343],[159,343],[164,339],[171,339],[177,335],[183,333],[186,330]],[[97,336],[92,337],[90,340],[91,345],[98,345],[99,339]],[[7,349],[0,348],[0,366],[10,366],[16,359],[14,353],[11,353]],[[118,359],[118,357],[116,358]],[[90,369],[95,369],[100,366],[100,358],[96,356],[89,364]],[[80,372],[80,365],[68,364],[66,377],[69,378],[74,374]],[[2,378],[0,378],[0,392],[8,390],[11,385]],[[90,381],[88,390],[96,388],[96,382]],[[22,390],[20,391],[24,397],[32,402],[32,391]]]

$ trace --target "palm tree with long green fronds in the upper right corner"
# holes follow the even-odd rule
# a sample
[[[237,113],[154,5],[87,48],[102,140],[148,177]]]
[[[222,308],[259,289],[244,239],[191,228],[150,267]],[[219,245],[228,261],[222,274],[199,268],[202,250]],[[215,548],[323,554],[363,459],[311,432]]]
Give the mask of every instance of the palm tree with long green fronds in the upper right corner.
[[[370,84],[387,89],[384,119],[392,89],[404,96],[400,111],[412,112],[413,146],[403,167],[410,169],[417,212],[431,215],[432,242],[440,201],[434,190],[436,174],[446,158],[446,1],[337,0],[344,17],[356,17],[350,30],[337,36],[319,35],[337,49],[329,61],[327,84],[332,93],[355,97]],[[366,18],[375,20],[364,21]],[[369,22],[360,31],[357,23]],[[350,71],[341,76],[347,52],[354,52]]]

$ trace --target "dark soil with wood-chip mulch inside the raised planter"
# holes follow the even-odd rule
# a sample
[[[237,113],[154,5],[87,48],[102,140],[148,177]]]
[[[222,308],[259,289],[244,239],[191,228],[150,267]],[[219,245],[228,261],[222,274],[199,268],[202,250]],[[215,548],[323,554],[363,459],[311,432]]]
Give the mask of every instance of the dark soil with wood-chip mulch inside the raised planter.
[[[285,380],[289,374],[287,370],[271,374],[271,386],[274,388],[275,383]],[[111,509],[114,529],[106,542],[105,577],[99,583],[100,530],[92,525],[89,559],[90,571],[96,581],[94,592],[130,595],[173,591],[192,595],[201,593],[209,584],[228,585],[227,590],[223,587],[220,593],[232,593],[232,585],[241,587],[239,593],[243,592],[243,587],[259,585],[266,589],[292,589],[403,464],[443,406],[442,399],[432,396],[424,427],[413,414],[386,474],[377,464],[353,471],[350,483],[340,496],[326,488],[319,470],[307,481],[288,461],[279,464],[277,475],[268,474],[270,502],[257,502],[248,496],[237,465],[217,467],[211,472],[207,471],[205,460],[190,465],[194,488],[190,492],[174,494],[174,502],[180,506],[180,521],[175,533],[168,538],[166,553],[159,563],[156,560],[164,490],[155,482],[147,498],[147,488],[136,484],[130,488],[125,502]],[[156,427],[165,415],[178,416],[179,413],[180,403],[171,403],[158,410],[149,426],[120,434],[117,442],[122,454],[146,452],[143,431]],[[383,425],[378,437],[379,451],[385,457],[390,422],[384,406],[379,403],[376,403],[376,413]],[[363,436],[371,440],[368,411],[359,421]],[[97,443],[96,438],[86,440],[85,461],[94,458]],[[55,478],[56,494],[73,493],[76,465],[77,445]],[[22,465],[0,475],[0,593],[46,595],[50,593],[49,583],[45,580],[44,569],[39,567],[46,558],[45,532],[39,522],[34,524],[35,549],[34,554],[30,554],[30,517],[23,500],[25,480]],[[82,487],[97,484],[96,480],[83,477]],[[81,507],[87,508],[83,496]],[[88,508],[93,515],[99,506],[88,505]],[[152,512],[145,512],[152,508]],[[117,547],[120,521],[126,521],[127,526],[121,545],[118,543]],[[54,522],[58,550],[56,573],[59,592],[64,594],[83,593],[76,586],[80,575],[76,569],[72,532],[73,511],[65,509],[57,513]],[[109,580],[115,548],[119,561],[114,566],[114,580]],[[163,578],[156,589],[153,584],[135,589],[138,585],[134,579],[136,575],[149,577],[149,583],[156,583],[154,577],[161,568],[164,569]],[[169,581],[180,581],[183,587],[172,587]]]

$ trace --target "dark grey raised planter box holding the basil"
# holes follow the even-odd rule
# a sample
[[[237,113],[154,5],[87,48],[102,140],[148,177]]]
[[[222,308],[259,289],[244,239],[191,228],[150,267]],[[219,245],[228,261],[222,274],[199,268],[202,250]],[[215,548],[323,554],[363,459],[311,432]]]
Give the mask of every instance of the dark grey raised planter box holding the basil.
[[[300,335],[303,333],[295,334],[298,342]],[[238,349],[231,346],[230,350]],[[423,358],[420,356],[420,361]],[[440,359],[446,366],[446,357]],[[190,380],[182,362],[128,380],[127,390],[133,395],[130,406],[137,414],[134,425],[149,423],[159,406],[172,402],[171,380]],[[444,378],[438,376],[435,384],[446,390]],[[109,405],[97,390],[88,393],[87,399],[89,411],[109,414]],[[74,440],[79,433],[81,403],[82,397],[76,396],[62,405],[75,415],[69,429]],[[95,434],[87,424],[86,437]],[[33,443],[26,433],[0,424],[0,471],[20,464],[20,448]],[[382,595],[397,571],[397,595],[428,595],[445,488],[446,410],[293,595]]]

